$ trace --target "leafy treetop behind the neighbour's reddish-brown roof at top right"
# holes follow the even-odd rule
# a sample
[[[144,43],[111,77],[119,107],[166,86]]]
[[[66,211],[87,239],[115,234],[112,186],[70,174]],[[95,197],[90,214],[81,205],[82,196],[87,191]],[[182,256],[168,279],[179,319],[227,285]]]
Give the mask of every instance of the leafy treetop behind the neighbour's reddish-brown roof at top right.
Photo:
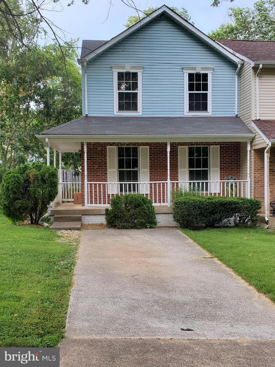
[[[253,8],[229,8],[228,18],[208,35],[215,40],[275,40],[275,0],[256,1]]]

